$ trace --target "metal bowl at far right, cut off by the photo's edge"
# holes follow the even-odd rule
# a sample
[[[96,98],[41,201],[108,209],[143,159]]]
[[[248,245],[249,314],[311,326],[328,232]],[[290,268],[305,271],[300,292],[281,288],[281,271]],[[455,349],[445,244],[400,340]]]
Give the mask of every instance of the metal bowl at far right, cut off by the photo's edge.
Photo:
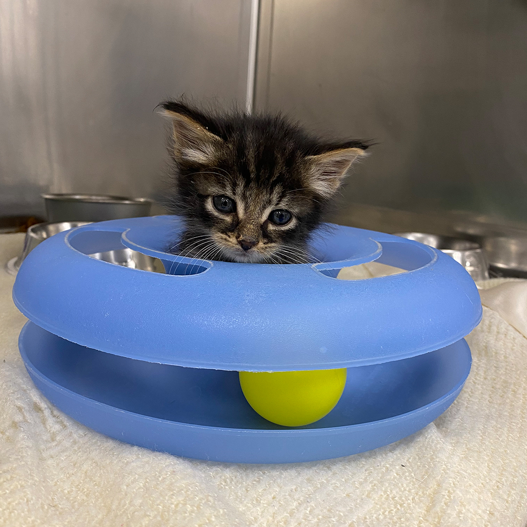
[[[487,237],[483,249],[497,276],[527,278],[527,236]]]

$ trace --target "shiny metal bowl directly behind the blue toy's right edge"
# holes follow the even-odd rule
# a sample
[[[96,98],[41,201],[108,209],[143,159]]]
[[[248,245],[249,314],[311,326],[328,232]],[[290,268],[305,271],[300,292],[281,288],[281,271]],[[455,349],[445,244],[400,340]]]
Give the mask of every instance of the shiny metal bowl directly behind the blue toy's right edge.
[[[415,240],[443,251],[461,264],[474,281],[489,279],[489,265],[479,243],[425,232],[397,232],[396,236]]]

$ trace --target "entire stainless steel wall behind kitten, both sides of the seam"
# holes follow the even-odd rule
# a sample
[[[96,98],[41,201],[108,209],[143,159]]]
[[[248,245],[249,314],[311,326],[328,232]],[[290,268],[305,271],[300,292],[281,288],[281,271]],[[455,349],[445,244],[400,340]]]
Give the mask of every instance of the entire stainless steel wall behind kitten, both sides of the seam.
[[[0,0],[0,216],[153,196],[152,112],[246,103],[255,0]],[[261,0],[256,103],[379,144],[353,202],[527,221],[525,0]],[[250,84],[250,83],[249,83]]]

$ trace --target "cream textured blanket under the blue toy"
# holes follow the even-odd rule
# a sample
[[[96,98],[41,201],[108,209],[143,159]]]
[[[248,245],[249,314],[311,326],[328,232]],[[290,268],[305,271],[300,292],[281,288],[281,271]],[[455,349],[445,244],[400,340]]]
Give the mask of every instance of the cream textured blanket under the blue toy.
[[[0,236],[0,260],[22,236]],[[372,452],[235,465],[150,452],[92,432],[36,390],[25,319],[0,268],[2,527],[524,527],[527,282],[485,282],[461,395],[422,431]],[[493,287],[495,286],[495,287]],[[523,332],[523,335],[522,333]]]

